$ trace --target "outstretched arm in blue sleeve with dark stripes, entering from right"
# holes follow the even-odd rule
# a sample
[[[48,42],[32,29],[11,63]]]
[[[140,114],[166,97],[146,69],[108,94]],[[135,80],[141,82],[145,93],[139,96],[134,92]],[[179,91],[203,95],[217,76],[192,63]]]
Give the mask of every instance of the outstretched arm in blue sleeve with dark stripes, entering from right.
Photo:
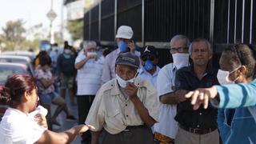
[[[240,83],[224,86],[212,86],[206,89],[197,89],[186,94],[191,98],[194,109],[203,104],[207,108],[210,99],[214,106],[219,108],[238,108],[256,106],[256,80],[250,83]]]

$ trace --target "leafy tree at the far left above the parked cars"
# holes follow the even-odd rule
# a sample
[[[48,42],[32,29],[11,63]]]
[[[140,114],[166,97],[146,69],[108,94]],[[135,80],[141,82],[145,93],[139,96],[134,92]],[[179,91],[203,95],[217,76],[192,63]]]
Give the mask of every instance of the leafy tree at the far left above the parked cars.
[[[22,19],[6,22],[6,27],[2,28],[2,41],[6,43],[6,49],[18,50],[26,38],[23,36],[26,30],[23,27]]]

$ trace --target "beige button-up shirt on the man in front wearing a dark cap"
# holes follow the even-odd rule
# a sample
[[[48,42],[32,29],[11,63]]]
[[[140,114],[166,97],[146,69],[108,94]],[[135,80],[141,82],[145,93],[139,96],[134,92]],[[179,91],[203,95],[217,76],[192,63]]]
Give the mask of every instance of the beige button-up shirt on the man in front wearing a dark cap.
[[[148,110],[150,117],[158,122],[159,100],[157,91],[150,82],[135,78],[138,86],[138,98]],[[94,126],[93,131],[102,130],[102,127],[110,134],[118,134],[126,129],[126,126],[140,126],[144,122],[129,98],[125,98],[119,89],[116,79],[104,84],[90,107],[86,118],[86,125]]]

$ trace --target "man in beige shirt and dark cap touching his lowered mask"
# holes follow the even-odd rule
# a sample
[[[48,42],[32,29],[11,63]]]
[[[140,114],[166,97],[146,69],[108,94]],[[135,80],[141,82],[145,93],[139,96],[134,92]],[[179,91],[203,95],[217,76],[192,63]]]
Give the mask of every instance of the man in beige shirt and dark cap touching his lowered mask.
[[[116,77],[106,82],[94,98],[86,124],[94,126],[92,144],[102,127],[103,144],[154,144],[150,126],[158,122],[159,100],[154,87],[137,78],[139,58],[122,53],[115,61]]]

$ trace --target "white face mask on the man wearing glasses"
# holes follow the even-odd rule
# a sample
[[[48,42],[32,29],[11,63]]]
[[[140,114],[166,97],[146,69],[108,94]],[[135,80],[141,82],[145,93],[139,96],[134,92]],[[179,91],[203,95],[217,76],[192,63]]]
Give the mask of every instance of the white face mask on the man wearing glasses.
[[[172,56],[174,59],[174,66],[176,66],[177,69],[180,69],[184,66],[189,66],[190,54],[176,53],[172,54]]]

